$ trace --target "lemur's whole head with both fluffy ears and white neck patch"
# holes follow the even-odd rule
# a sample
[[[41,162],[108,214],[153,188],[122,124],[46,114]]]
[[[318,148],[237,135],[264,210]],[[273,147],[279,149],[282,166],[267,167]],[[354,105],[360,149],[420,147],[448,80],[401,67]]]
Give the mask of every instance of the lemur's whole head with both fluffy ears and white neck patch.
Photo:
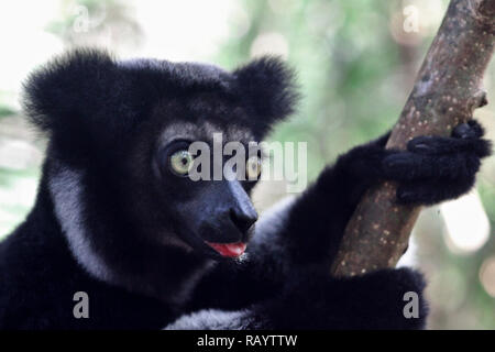
[[[296,100],[294,75],[277,58],[227,72],[76,51],[31,75],[24,106],[50,136],[45,180],[73,252],[108,263],[163,248],[242,254],[257,218],[249,196],[261,156],[249,143]],[[194,142],[210,155],[191,153]],[[226,178],[229,142],[245,146],[248,177]]]

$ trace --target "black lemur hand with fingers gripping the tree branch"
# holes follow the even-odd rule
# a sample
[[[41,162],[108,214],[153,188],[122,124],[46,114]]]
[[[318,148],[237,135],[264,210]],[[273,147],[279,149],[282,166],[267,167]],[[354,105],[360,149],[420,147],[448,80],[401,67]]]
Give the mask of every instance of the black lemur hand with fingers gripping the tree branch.
[[[474,185],[481,158],[491,154],[474,120],[454,128],[452,136],[418,136],[407,151],[393,151],[382,160],[383,177],[399,183],[397,200],[432,205],[457,198]]]

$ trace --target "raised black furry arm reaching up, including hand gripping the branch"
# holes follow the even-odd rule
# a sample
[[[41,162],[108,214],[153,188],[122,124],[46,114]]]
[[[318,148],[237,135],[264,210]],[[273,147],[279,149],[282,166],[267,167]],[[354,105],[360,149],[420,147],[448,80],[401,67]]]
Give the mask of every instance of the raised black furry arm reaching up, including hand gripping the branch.
[[[287,210],[279,231],[292,265],[331,264],[364,191],[380,180],[398,184],[397,202],[432,205],[469,191],[491,143],[474,120],[450,138],[419,136],[406,151],[385,150],[388,135],[354,147],[326,168]]]

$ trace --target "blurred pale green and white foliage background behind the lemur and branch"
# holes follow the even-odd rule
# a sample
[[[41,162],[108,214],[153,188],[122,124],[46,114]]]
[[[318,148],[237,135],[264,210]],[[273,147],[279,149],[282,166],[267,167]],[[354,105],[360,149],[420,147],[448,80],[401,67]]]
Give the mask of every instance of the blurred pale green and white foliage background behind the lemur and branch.
[[[36,193],[45,141],[24,122],[26,74],[73,46],[119,57],[211,62],[234,68],[277,54],[298,70],[299,112],[271,140],[308,143],[308,177],[397,120],[440,25],[441,0],[48,0],[0,2],[0,239]],[[476,111],[495,140],[495,65],[487,107]],[[261,184],[260,210],[285,196]],[[429,280],[431,329],[495,329],[495,157],[476,190],[421,213],[403,265]]]

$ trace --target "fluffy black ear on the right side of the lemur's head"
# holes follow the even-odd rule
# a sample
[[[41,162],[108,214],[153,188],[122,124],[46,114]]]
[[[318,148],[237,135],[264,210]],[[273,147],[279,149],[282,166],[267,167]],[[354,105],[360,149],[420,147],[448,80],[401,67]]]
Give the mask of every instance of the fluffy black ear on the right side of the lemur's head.
[[[299,98],[296,75],[278,57],[261,57],[233,72],[242,95],[267,128],[293,113]]]

